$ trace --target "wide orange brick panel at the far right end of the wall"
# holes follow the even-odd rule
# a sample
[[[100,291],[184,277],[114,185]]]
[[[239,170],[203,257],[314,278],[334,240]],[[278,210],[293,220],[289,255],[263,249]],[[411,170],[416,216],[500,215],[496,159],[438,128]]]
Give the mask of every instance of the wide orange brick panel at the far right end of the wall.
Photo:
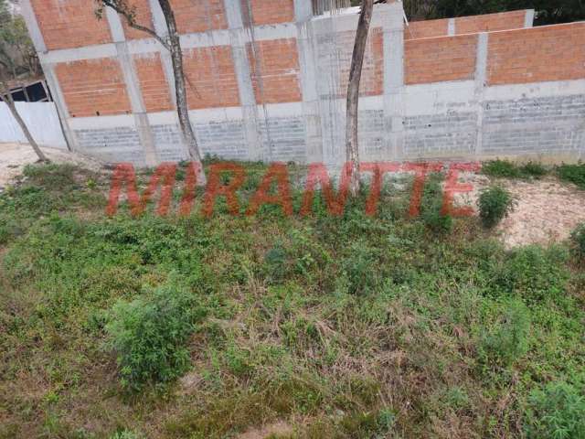
[[[490,34],[488,84],[585,78],[585,23]]]

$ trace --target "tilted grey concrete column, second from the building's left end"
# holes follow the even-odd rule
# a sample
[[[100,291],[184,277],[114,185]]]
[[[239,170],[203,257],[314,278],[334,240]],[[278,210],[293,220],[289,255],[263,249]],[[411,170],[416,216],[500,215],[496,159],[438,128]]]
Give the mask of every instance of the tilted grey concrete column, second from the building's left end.
[[[122,20],[116,11],[110,7],[106,8],[106,17],[110,24],[112,39],[116,46],[118,61],[122,68],[126,91],[128,92],[128,98],[130,99],[130,104],[132,106],[135,129],[140,138],[140,143],[143,145],[144,162],[146,166],[156,166],[158,158],[156,156],[156,148],[154,147],[153,133],[150,129],[150,124],[148,123],[148,115],[146,114],[143,94],[140,90],[140,81],[136,74],[134,61],[128,51],[128,45],[126,44]]]

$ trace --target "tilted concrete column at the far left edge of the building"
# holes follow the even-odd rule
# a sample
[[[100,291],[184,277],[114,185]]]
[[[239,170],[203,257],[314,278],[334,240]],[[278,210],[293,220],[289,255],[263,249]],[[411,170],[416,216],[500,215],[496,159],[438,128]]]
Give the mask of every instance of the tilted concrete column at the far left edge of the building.
[[[35,16],[35,11],[30,4],[30,0],[21,0],[20,7],[22,16],[25,18],[25,22],[27,23],[28,34],[30,35],[30,39],[33,41],[33,45],[37,50],[38,59],[40,59],[41,67],[45,73],[45,79],[47,80],[48,88],[51,92],[51,96],[53,97],[53,101],[55,102],[58,118],[61,122],[61,126],[63,127],[63,135],[65,136],[68,149],[69,151],[75,151],[78,149],[77,139],[69,126],[69,110],[67,109],[67,103],[65,102],[63,92],[61,91],[57,76],[55,75],[54,64],[43,61],[42,54],[47,53],[48,49],[45,45],[45,39],[43,38],[43,34],[40,31],[40,27],[38,27],[37,16]]]

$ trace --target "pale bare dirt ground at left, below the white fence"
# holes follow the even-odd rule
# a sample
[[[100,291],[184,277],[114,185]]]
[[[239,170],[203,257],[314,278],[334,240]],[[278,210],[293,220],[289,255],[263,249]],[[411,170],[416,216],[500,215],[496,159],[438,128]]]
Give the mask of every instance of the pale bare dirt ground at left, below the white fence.
[[[42,148],[48,159],[55,163],[71,163],[91,170],[99,170],[102,164],[83,155],[62,149]],[[22,173],[25,166],[37,162],[37,155],[27,144],[0,144],[0,190]]]

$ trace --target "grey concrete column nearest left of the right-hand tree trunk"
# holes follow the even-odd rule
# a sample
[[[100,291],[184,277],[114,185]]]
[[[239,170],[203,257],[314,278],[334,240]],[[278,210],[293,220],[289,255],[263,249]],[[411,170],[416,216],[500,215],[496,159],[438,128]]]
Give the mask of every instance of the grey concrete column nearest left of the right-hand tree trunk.
[[[301,89],[303,92],[303,114],[307,162],[323,162],[323,138],[317,93],[316,63],[314,50],[313,4],[311,0],[294,0],[294,13],[297,27],[297,47],[301,69]]]

